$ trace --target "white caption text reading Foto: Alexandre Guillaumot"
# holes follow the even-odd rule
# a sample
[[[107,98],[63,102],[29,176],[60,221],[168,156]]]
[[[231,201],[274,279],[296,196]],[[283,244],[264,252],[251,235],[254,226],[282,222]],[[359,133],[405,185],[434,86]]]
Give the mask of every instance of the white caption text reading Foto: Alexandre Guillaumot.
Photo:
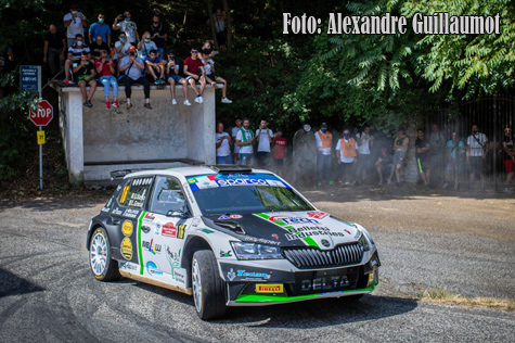
[[[405,34],[408,27],[416,35],[499,35],[501,16],[450,15],[447,12],[424,15],[415,13],[411,24],[405,16],[390,15],[342,15],[330,13],[327,35],[397,35]],[[283,34],[322,34],[322,20],[308,16],[292,16],[283,13]]]

